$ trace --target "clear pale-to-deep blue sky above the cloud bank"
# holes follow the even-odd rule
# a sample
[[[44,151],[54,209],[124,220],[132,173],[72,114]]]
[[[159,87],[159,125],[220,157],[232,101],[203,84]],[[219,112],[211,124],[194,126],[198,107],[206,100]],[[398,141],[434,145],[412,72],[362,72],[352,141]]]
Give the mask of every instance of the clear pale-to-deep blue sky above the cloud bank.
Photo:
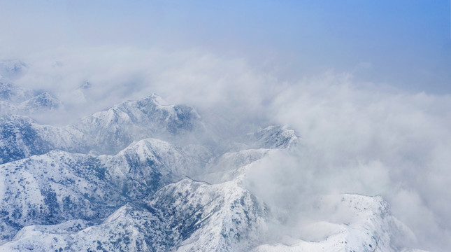
[[[450,1],[1,2],[9,57],[69,45],[196,48],[281,80],[335,69],[411,92],[451,92]]]

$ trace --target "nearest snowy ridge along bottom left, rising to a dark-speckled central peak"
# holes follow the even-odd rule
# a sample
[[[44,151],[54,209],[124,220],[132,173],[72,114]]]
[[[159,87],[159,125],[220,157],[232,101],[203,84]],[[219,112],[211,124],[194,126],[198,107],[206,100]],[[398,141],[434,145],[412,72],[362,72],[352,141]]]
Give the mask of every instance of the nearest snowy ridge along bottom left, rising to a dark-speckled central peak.
[[[269,216],[234,183],[183,179],[143,203],[129,203],[99,225],[69,221],[24,228],[0,251],[245,251]],[[214,228],[212,228],[214,227]]]

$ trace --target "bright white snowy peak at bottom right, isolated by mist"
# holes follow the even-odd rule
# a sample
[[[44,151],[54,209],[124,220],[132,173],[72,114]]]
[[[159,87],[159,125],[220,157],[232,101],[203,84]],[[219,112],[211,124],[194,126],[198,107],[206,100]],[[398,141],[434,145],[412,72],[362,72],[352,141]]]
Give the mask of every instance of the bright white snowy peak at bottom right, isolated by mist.
[[[252,251],[400,251],[400,241],[415,240],[382,197],[325,195],[314,204],[315,221],[285,235],[284,243],[262,244]]]

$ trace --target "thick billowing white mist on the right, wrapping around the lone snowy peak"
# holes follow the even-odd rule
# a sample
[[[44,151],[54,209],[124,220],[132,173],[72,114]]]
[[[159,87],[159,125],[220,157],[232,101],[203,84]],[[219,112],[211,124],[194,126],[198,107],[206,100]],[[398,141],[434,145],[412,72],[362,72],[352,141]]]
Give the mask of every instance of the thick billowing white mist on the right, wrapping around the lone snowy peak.
[[[270,108],[301,136],[300,146],[253,167],[250,188],[287,211],[291,225],[336,214],[319,217],[309,209],[317,195],[380,195],[415,235],[403,246],[446,251],[450,102],[449,95],[356,85],[346,73],[303,80],[278,94]]]

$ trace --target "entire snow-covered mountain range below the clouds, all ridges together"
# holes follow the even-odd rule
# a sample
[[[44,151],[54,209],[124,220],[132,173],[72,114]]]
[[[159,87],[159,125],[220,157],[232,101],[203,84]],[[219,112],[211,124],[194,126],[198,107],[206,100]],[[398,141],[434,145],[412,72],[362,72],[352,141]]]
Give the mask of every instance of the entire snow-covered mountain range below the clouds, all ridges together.
[[[318,197],[321,218],[275,237],[280,219],[244,182],[298,141],[280,125],[221,139],[155,94],[65,127],[3,116],[0,251],[398,251],[414,239],[362,195]]]

